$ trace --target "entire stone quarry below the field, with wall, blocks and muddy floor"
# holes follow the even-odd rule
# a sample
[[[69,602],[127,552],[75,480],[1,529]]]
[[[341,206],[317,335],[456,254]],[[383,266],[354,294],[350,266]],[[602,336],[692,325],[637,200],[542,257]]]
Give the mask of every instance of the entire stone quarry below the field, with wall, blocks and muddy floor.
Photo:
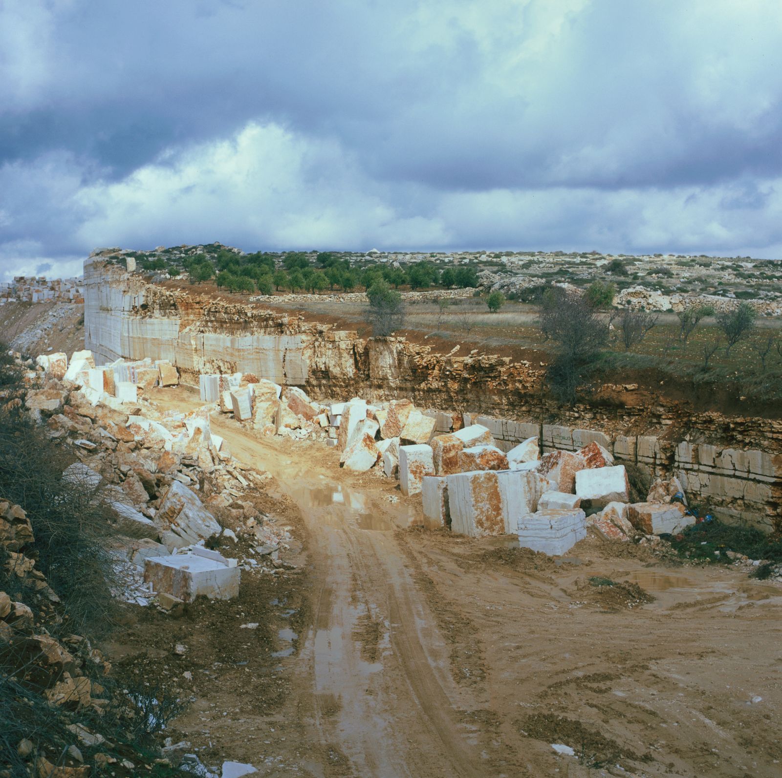
[[[563,407],[532,359],[119,262],[88,262],[84,330],[6,309],[38,359],[0,411],[56,453],[75,537],[99,506],[111,607],[73,620],[6,425],[2,683],[34,718],[11,714],[0,770],[775,775],[773,414],[630,380]]]

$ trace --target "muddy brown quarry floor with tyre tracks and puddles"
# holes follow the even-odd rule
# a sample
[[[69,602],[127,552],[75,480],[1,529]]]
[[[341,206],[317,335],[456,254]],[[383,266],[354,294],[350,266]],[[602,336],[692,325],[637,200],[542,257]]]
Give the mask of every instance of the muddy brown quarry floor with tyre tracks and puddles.
[[[418,502],[335,451],[213,430],[300,512],[310,606],[264,670],[278,705],[248,715],[227,674],[178,721],[210,753],[265,776],[779,775],[782,588],[597,537],[553,560],[407,530]]]

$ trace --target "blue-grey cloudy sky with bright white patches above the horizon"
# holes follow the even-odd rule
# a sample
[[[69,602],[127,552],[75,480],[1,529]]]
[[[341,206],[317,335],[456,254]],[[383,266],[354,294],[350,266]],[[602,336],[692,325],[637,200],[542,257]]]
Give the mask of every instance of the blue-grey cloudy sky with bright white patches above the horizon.
[[[0,277],[211,241],[782,257],[782,2],[0,0]]]

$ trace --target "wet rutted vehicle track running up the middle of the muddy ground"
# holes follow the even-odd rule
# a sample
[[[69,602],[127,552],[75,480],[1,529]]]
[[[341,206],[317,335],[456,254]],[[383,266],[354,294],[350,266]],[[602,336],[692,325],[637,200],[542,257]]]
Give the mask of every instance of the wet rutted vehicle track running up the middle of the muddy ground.
[[[307,766],[325,776],[484,775],[463,737],[463,692],[451,680],[446,642],[395,534],[359,528],[348,505],[317,505],[313,494],[330,474],[281,461],[278,445],[226,419],[213,426],[235,456],[262,461],[278,477],[310,533],[313,626],[301,656],[310,676],[310,737],[325,744],[326,758],[322,773]],[[387,503],[363,512],[395,526]],[[366,630],[367,622],[375,628]],[[375,644],[369,652],[367,631]]]

